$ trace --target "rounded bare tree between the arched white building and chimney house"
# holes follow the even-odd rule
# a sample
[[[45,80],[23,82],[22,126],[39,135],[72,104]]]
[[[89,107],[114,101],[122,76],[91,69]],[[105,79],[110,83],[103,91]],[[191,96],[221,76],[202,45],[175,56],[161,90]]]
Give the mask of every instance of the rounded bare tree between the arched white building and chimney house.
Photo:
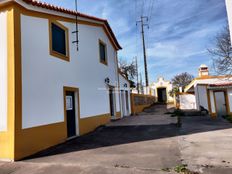
[[[194,79],[194,76],[187,72],[174,76],[171,80],[173,88],[171,91],[169,91],[169,94],[171,96],[174,96],[174,94],[179,92],[180,87],[184,89],[189,83],[191,83],[193,79]]]

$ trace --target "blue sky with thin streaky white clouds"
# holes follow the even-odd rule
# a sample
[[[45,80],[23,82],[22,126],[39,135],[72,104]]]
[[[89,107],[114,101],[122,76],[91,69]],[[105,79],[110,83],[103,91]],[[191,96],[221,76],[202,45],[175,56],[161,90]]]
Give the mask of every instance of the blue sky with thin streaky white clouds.
[[[43,0],[74,8],[74,0]],[[150,82],[181,72],[197,76],[200,64],[212,66],[207,48],[227,24],[224,0],[78,0],[78,11],[108,19],[123,50],[119,58],[137,56],[143,73],[140,28],[136,20],[149,16],[145,29]],[[153,6],[153,8],[151,8]],[[144,79],[144,76],[143,76]]]

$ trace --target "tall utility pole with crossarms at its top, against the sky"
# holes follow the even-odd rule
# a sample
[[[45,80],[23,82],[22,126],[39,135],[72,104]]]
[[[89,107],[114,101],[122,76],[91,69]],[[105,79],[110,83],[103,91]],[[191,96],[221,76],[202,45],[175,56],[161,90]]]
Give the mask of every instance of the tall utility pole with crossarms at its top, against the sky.
[[[146,20],[146,23],[144,20]],[[142,34],[142,42],[143,42],[143,56],[144,56],[144,70],[145,70],[146,87],[149,86],[148,71],[147,71],[147,54],[146,54],[146,45],[145,45],[145,38],[144,38],[144,26],[149,28],[149,25],[147,24],[147,22],[148,22],[147,16],[141,16],[141,20],[136,22],[136,25],[138,25],[138,23],[141,23],[141,34]]]

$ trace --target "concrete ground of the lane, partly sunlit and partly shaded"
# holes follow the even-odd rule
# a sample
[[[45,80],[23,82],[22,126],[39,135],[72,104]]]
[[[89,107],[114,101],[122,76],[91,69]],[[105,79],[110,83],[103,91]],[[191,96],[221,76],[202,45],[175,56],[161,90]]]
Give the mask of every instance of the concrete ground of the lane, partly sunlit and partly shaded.
[[[170,110],[155,105],[29,159],[0,162],[0,174],[165,174],[181,164],[231,174],[232,124],[198,116],[178,128],[176,117],[164,114]]]

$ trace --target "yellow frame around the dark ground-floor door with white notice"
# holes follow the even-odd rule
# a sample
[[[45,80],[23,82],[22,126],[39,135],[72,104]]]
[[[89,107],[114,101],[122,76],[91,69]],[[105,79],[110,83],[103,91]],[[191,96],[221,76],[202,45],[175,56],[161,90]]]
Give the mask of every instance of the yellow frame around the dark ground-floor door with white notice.
[[[68,137],[68,128],[67,128],[67,112],[66,112],[66,92],[74,92],[75,96],[75,112],[76,112],[76,136],[74,137]],[[80,95],[79,95],[79,88],[74,88],[74,87],[68,87],[64,86],[63,87],[63,95],[64,95],[64,121],[65,121],[65,126],[66,126],[66,138],[67,139],[72,139],[80,135]]]

